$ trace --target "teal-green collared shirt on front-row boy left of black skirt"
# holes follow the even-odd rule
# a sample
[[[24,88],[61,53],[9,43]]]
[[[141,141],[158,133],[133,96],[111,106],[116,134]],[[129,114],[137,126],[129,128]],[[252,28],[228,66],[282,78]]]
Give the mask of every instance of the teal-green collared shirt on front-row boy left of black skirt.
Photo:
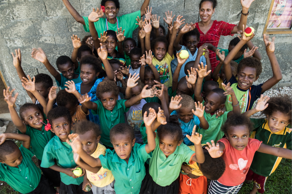
[[[100,155],[99,159],[103,168],[112,171],[116,180],[114,190],[117,194],[138,194],[146,175],[144,163],[150,157],[145,150],[145,144],[135,143],[128,164],[110,149],[106,150],[105,156]]]

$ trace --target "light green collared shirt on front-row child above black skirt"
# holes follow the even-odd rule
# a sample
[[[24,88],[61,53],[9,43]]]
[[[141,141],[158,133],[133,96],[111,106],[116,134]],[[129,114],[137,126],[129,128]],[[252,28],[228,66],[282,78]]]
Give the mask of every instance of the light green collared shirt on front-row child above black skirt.
[[[164,187],[170,185],[178,178],[183,162],[188,164],[195,163],[191,161],[195,152],[182,143],[166,158],[159,148],[159,138],[157,133],[155,142],[156,147],[152,153],[152,158],[150,159],[149,174],[156,184]]]

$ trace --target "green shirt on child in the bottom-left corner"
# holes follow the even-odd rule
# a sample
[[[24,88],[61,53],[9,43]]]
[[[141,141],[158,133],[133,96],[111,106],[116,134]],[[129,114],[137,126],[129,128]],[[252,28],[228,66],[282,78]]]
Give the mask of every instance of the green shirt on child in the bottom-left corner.
[[[32,161],[34,154],[20,146],[22,162],[18,168],[0,163],[0,180],[7,182],[15,191],[29,193],[33,191],[41,179],[41,169]]]

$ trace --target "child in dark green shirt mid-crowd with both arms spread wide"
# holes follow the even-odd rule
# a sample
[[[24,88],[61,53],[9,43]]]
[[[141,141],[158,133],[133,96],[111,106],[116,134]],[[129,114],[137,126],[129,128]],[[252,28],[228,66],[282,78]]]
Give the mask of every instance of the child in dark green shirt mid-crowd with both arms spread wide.
[[[79,93],[75,96],[79,98],[79,102],[88,109],[91,109],[93,115],[99,115],[100,128],[102,130],[102,137],[100,138],[101,142],[109,147],[113,147],[109,139],[109,131],[114,125],[118,123],[124,123],[125,117],[124,113],[128,112],[129,108],[135,103],[139,102],[142,98],[145,97],[154,97],[154,88],[153,86],[150,90],[146,90],[147,85],[144,86],[141,93],[138,96],[132,97],[128,100],[118,100],[119,88],[114,83],[114,81],[102,81],[98,84],[96,91],[97,98],[99,100],[91,102],[91,97],[86,93],[81,96]],[[76,92],[77,93],[77,92]]]

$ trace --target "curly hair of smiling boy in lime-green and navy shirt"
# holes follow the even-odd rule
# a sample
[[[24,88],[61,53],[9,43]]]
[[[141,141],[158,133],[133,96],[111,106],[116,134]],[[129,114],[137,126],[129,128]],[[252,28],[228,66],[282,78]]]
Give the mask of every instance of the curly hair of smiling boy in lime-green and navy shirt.
[[[246,57],[242,59],[238,66],[237,66],[237,74],[244,68],[244,67],[252,67],[256,69],[256,76],[260,76],[263,71],[262,62],[256,57]]]

